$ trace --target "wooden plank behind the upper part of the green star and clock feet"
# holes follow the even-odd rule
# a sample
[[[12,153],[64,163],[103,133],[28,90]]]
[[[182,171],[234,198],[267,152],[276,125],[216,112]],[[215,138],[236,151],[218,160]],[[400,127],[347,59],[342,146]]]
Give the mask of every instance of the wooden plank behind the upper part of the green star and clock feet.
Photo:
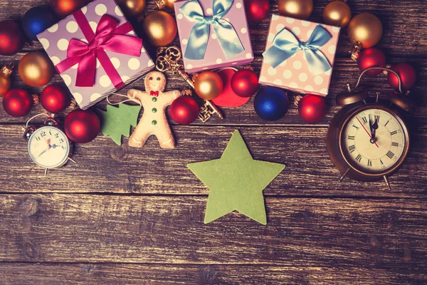
[[[141,149],[115,145],[100,134],[93,142],[76,145],[78,165],[43,170],[27,155],[18,125],[0,125],[2,192],[115,192],[144,195],[206,195],[208,189],[186,168],[189,162],[221,157],[231,127],[174,126],[177,146],[162,150],[152,137]],[[425,197],[427,130],[413,133],[411,153],[401,169],[384,182],[338,182],[339,172],[326,149],[326,128],[239,128],[253,157],[285,163],[287,167],[265,195],[336,197]],[[190,155],[191,154],[191,155]]]

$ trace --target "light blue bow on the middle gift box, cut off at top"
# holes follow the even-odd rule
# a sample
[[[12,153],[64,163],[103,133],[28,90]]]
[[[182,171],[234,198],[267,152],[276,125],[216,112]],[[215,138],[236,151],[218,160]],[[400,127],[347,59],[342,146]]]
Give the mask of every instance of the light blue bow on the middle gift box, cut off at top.
[[[203,9],[197,0],[188,1],[179,8],[186,19],[196,23],[191,29],[184,58],[204,58],[211,26],[214,28],[214,33],[226,58],[231,58],[244,51],[233,26],[222,19],[230,10],[233,0],[214,0],[213,4],[214,16],[204,16]]]

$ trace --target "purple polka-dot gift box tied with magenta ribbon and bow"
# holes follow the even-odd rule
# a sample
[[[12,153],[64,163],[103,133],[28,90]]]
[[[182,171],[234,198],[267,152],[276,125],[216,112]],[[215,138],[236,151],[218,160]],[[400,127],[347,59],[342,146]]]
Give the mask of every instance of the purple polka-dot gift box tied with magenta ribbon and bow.
[[[37,37],[82,109],[154,68],[114,0],[95,0]]]

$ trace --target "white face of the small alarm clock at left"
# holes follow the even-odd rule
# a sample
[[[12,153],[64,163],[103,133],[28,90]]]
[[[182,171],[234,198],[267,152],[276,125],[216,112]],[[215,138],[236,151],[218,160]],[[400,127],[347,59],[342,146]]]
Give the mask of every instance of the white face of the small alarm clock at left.
[[[28,153],[36,164],[45,168],[63,165],[70,154],[70,142],[65,133],[55,127],[37,129],[28,141]]]

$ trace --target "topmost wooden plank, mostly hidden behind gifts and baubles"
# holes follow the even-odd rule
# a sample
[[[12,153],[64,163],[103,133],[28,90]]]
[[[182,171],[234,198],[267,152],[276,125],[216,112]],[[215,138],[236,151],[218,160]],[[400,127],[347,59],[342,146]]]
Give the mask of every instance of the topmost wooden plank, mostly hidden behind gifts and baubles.
[[[328,0],[315,1],[314,10],[310,21],[322,23],[322,13]],[[33,6],[46,4],[43,0],[15,0],[2,1],[0,3],[0,19],[21,19],[23,14]],[[278,14],[277,1],[270,1],[270,15]],[[404,1],[351,1],[348,3],[352,9],[352,14],[372,13],[379,17],[384,26],[384,35],[378,44],[379,48],[389,54],[389,56],[424,56],[427,52],[427,36],[423,31],[427,28],[427,19],[420,17],[426,11],[426,4],[418,0]],[[154,1],[147,1],[145,14],[155,9]],[[174,11],[167,9],[171,14]],[[270,16],[261,23],[251,23],[249,28],[252,35],[252,45],[255,53],[260,54],[265,47],[267,39]],[[142,34],[141,25],[134,23],[139,34]],[[174,44],[179,44],[178,38]],[[26,50],[41,48],[39,43],[26,47]],[[340,35],[338,53],[348,56],[348,51],[352,50],[352,45],[347,37],[347,28]]]

